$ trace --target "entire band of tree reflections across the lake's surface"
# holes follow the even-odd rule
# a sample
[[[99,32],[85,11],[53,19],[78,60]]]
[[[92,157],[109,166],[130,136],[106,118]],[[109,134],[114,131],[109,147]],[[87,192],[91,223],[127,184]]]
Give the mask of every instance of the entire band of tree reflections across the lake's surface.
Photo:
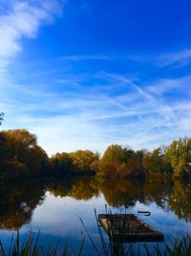
[[[147,182],[98,179],[20,180],[0,186],[0,228],[18,229],[32,220],[32,213],[41,204],[46,192],[54,197],[90,200],[103,195],[112,207],[130,207],[137,202],[155,202],[164,211],[173,211],[179,219],[191,221],[191,186],[179,180],[149,179]]]

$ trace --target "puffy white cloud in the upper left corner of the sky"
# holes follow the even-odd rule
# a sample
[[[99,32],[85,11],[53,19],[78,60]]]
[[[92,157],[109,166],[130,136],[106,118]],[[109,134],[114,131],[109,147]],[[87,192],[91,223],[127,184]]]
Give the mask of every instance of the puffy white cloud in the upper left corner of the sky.
[[[21,51],[21,39],[35,37],[42,24],[53,22],[53,16],[61,14],[61,8],[56,0],[1,0],[1,4],[4,8],[3,14],[0,14],[0,71],[2,73],[6,71],[11,58]]]

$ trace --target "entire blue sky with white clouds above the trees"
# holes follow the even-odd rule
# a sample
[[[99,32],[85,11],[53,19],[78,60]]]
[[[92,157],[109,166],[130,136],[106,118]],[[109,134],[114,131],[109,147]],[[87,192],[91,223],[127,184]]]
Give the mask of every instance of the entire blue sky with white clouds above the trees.
[[[1,129],[52,155],[191,135],[190,0],[0,0]]]

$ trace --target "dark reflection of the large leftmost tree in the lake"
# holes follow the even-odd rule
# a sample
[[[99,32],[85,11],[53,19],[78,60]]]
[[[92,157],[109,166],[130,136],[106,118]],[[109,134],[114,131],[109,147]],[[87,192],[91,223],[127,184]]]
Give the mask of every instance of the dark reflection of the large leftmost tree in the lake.
[[[32,212],[43,202],[45,189],[37,179],[18,180],[0,186],[0,228],[19,229],[32,219]]]

